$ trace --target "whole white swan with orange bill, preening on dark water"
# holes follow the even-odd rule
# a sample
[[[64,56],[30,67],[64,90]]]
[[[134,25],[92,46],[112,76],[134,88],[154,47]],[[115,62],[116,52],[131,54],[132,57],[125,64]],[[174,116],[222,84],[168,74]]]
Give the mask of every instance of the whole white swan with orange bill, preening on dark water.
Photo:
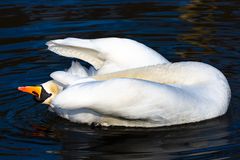
[[[47,42],[72,62],[52,80],[18,90],[72,122],[100,126],[161,127],[199,122],[226,113],[231,90],[218,69],[201,62],[171,63],[125,38],[66,38]]]

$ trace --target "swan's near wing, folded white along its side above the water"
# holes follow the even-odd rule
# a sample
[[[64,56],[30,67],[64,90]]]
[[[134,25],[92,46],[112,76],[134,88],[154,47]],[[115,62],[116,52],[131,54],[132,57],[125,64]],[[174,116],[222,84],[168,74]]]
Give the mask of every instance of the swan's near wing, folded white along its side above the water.
[[[64,110],[88,108],[112,117],[169,122],[189,119],[198,104],[183,89],[127,78],[73,85],[53,100],[53,106]]]

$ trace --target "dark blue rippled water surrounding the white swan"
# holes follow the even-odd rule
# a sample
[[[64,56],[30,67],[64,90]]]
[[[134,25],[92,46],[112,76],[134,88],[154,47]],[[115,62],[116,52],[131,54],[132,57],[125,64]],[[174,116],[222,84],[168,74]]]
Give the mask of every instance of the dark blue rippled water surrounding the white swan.
[[[1,1],[0,159],[240,158],[239,9],[238,0]],[[145,43],[170,61],[222,70],[232,89],[227,114],[167,128],[92,129],[16,90],[69,67],[46,41],[112,36]]]

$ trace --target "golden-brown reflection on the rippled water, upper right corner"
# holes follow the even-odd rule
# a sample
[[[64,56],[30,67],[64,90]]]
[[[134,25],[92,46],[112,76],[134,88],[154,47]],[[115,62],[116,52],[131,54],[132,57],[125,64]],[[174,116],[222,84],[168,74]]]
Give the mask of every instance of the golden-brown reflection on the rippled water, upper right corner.
[[[236,49],[237,42],[233,40],[238,39],[238,35],[234,33],[237,32],[236,25],[239,18],[236,13],[234,14],[234,10],[238,10],[238,6],[227,2],[208,3],[196,0],[179,10],[183,13],[180,18],[192,25],[191,29],[180,34],[179,38],[198,47],[197,52],[219,53],[220,46]],[[227,43],[229,39],[231,43]],[[187,53],[196,53],[196,50]]]

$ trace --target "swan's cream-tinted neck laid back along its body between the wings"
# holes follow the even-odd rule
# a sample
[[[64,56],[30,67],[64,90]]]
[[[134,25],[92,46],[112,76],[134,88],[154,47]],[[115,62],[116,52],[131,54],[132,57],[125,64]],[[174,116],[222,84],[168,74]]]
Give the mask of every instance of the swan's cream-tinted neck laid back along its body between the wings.
[[[162,84],[197,85],[216,80],[227,83],[216,68],[201,62],[177,62],[151,65],[125,71],[94,76],[97,80],[111,78],[136,78]]]

